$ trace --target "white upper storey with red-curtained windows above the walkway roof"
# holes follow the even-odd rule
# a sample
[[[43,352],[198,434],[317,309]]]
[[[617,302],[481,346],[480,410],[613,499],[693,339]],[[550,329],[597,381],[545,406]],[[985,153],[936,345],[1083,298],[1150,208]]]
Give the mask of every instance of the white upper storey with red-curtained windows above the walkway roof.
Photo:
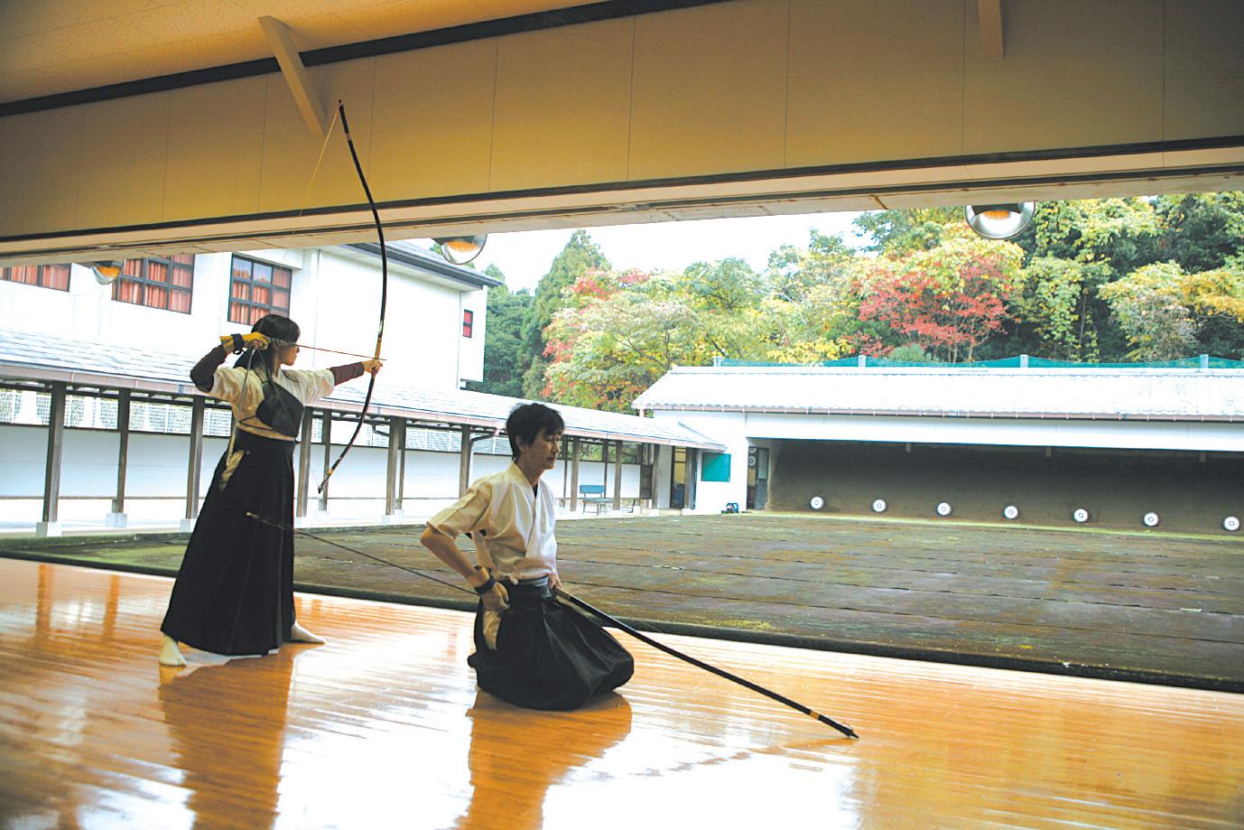
[[[481,380],[488,289],[499,281],[409,243],[387,250],[386,380],[432,389]],[[305,346],[371,356],[378,251],[369,243],[127,260],[109,285],[82,265],[0,269],[0,329],[202,355],[220,335],[275,312],[299,324]],[[299,368],[353,360],[309,350]]]

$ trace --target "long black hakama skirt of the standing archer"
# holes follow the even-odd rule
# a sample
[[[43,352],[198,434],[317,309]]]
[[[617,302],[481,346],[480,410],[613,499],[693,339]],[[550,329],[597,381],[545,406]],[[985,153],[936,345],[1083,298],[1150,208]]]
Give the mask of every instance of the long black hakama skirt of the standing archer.
[[[234,449],[244,455],[224,489],[228,450],[220,458],[160,626],[173,640],[218,655],[266,655],[289,640],[294,447],[239,429]]]

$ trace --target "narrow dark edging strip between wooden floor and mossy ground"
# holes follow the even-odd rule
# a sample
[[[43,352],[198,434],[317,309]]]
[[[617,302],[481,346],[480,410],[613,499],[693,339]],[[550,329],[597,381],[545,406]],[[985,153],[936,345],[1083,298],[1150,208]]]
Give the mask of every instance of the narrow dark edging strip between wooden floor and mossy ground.
[[[72,556],[56,556],[36,554],[31,551],[0,550],[0,556],[5,559],[20,559],[26,561],[49,562],[53,565],[73,565],[77,567],[91,567],[96,570],[119,571],[126,574],[142,574],[147,576],[177,576],[173,567],[149,567],[143,565],[129,565],[126,562],[96,562],[83,561]],[[318,594],[322,596],[340,596],[351,600],[369,600],[373,602],[392,602],[394,605],[413,605],[420,607],[445,609],[450,611],[474,611],[475,602],[469,597],[439,599],[439,597],[411,597],[392,594],[388,591],[367,591],[361,589],[345,589],[335,585],[318,585],[315,582],[300,582],[295,580],[294,590],[304,594]],[[669,622],[643,620],[638,617],[618,617],[622,622],[643,631],[644,633],[667,633],[688,637],[703,637],[707,640],[726,640],[731,642],[750,642],[763,646],[786,646],[791,648],[806,648],[810,651],[832,651],[847,655],[865,655],[868,657],[892,657],[896,660],[918,660],[931,663],[949,663],[954,666],[975,666],[979,668],[1000,668],[1006,671],[1036,672],[1041,674],[1060,674],[1066,677],[1085,677],[1101,681],[1121,681],[1126,683],[1146,683],[1151,686],[1174,686],[1181,688],[1202,689],[1207,692],[1232,692],[1244,693],[1244,681],[1235,681],[1225,677],[1209,677],[1198,674],[1179,674],[1174,672],[1154,672],[1148,669],[1121,668],[1116,666],[1096,666],[1087,663],[1064,663],[1061,661],[1034,660],[1025,657],[1008,657],[999,655],[979,655],[970,652],[950,652],[940,648],[914,648],[906,646],[892,646],[888,643],[855,642],[846,640],[833,640],[827,637],[811,637],[787,632],[758,632],[749,628],[715,627],[690,622]]]

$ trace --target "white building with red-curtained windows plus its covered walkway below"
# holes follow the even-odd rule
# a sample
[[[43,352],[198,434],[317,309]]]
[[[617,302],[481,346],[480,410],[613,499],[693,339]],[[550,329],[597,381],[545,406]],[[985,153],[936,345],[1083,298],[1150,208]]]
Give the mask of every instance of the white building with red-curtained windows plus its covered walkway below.
[[[509,462],[500,431],[518,402],[460,388],[483,377],[486,291],[499,282],[411,244],[387,250],[386,365],[358,445],[323,493],[316,485],[355,432],[367,378],[307,409],[302,521],[427,516]],[[192,526],[230,414],[193,387],[190,366],[220,335],[267,312],[299,322],[307,347],[300,368],[369,356],[378,251],[358,244],[128,260],[107,285],[81,265],[0,269],[0,528],[55,535],[62,518],[83,526],[106,516],[112,526]],[[546,480],[567,510],[585,498],[596,510],[647,506],[658,500],[659,455],[722,448],[677,424],[559,408],[573,452]]]

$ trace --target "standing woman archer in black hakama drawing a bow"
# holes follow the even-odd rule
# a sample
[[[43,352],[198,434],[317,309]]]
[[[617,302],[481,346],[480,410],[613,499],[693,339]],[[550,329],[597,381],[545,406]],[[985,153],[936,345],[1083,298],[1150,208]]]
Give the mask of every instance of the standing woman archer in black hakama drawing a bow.
[[[178,643],[266,655],[282,642],[323,642],[294,616],[294,445],[305,404],[364,371],[374,375],[381,362],[285,370],[297,360],[300,333],[270,314],[249,335],[221,337],[190,370],[200,391],[229,402],[234,428],[160,626],[164,666],[185,664]],[[241,353],[231,367],[221,366],[226,348]]]

